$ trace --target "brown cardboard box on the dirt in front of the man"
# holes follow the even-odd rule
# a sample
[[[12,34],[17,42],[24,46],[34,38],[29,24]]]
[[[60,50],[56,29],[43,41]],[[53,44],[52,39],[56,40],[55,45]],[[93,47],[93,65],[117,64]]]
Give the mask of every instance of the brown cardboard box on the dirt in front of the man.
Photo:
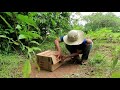
[[[57,51],[47,50],[37,54],[37,63],[40,69],[54,71],[63,64],[61,60],[56,59],[55,53]]]

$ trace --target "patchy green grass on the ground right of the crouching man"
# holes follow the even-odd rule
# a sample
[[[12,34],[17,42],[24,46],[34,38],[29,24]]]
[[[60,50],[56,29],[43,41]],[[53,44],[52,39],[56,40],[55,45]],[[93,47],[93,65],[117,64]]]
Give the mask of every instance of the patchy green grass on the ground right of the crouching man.
[[[95,78],[108,78],[111,73],[111,70],[120,71],[120,58],[118,58],[118,62],[114,69],[113,59],[116,57],[114,55],[115,48],[117,48],[119,43],[95,43],[93,51],[91,52],[91,56],[89,58],[89,64],[94,69],[94,75],[91,77]],[[116,52],[119,55],[118,52]],[[117,75],[116,75],[117,76]]]

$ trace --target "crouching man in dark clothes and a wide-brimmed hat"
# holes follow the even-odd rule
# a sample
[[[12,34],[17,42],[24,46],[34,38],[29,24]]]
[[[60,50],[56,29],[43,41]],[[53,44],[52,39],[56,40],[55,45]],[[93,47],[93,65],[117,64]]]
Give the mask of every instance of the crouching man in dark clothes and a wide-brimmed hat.
[[[57,58],[61,58],[64,60],[68,57],[71,57],[73,62],[77,62],[79,64],[87,64],[87,59],[93,42],[91,39],[84,38],[83,31],[71,30],[68,32],[67,35],[57,38],[54,42],[58,51]],[[62,55],[60,42],[65,43],[67,50],[71,53],[70,55]],[[79,54],[82,54],[81,59],[79,57]]]

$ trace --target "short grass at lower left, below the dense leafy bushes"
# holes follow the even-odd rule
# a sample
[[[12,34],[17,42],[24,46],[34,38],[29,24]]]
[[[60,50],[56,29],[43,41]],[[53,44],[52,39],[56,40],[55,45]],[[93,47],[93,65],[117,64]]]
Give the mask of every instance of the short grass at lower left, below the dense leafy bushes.
[[[24,58],[18,54],[0,54],[0,78],[22,77],[19,65],[23,64]]]

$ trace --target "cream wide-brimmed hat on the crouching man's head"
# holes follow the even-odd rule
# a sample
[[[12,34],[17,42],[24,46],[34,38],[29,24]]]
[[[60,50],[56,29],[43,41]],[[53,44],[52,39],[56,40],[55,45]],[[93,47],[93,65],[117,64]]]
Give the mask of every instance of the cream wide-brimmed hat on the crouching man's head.
[[[81,30],[71,30],[63,37],[63,40],[68,45],[79,45],[84,40],[84,32]]]

